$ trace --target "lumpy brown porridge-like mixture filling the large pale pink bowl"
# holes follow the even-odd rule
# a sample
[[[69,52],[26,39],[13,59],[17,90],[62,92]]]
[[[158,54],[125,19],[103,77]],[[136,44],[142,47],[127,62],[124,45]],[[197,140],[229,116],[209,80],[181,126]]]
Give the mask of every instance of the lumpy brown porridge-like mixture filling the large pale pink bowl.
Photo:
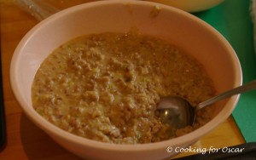
[[[70,133],[136,144],[168,140],[211,119],[208,107],[198,112],[195,126],[173,134],[155,114],[160,97],[178,95],[195,105],[212,94],[201,64],[175,46],[138,33],[102,33],[75,38],[44,60],[32,104]]]

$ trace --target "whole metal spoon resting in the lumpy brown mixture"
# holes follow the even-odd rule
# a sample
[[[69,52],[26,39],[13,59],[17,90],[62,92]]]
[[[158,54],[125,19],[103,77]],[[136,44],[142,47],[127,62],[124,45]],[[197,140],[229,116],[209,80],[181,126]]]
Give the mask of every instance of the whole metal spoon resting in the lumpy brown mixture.
[[[160,99],[157,106],[157,110],[160,111],[160,121],[170,124],[173,129],[182,129],[188,125],[191,126],[195,122],[195,112],[201,108],[212,105],[219,100],[224,100],[232,95],[241,94],[253,89],[256,89],[256,80],[231,89],[223,94],[218,94],[209,100],[201,102],[195,107],[191,106],[189,101],[182,97],[164,97]]]

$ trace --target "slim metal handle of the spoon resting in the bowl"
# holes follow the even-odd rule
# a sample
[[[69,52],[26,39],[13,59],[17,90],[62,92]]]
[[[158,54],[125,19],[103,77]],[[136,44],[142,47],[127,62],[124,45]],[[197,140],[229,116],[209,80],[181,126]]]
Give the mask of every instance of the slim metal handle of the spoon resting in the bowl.
[[[196,110],[199,110],[199,109],[201,109],[205,106],[212,105],[212,103],[215,103],[219,100],[224,100],[225,98],[228,98],[232,95],[241,94],[243,92],[247,92],[247,91],[250,91],[250,90],[253,90],[253,89],[256,89],[256,80],[253,80],[250,83],[243,84],[243,85],[241,85],[241,86],[239,86],[235,89],[231,89],[229,91],[226,91],[223,94],[218,94],[218,95],[212,97],[209,100],[203,101],[203,102],[201,102],[200,104],[198,104],[196,106]]]

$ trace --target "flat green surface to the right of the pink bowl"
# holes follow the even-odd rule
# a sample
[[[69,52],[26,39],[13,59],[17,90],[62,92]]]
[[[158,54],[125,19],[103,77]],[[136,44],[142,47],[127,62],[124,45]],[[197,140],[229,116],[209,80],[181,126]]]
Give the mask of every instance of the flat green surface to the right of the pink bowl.
[[[250,0],[225,0],[212,9],[195,13],[216,28],[235,49],[241,62],[243,83],[256,79],[250,5]],[[244,139],[247,142],[256,141],[256,90],[241,94],[232,114]]]

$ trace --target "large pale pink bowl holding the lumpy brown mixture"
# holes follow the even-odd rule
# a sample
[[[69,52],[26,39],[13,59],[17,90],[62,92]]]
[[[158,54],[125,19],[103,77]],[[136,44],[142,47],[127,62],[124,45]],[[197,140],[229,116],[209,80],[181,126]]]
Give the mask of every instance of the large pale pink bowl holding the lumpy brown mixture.
[[[238,95],[218,104],[215,117],[200,129],[172,140],[143,145],[115,145],[87,140],[55,127],[32,107],[33,77],[42,61],[55,48],[73,37],[105,31],[125,32],[136,27],[143,34],[161,37],[195,56],[218,92],[241,84],[236,53],[218,31],[180,9],[143,1],[100,1],[85,3],[50,16],[21,40],[11,61],[10,80],[16,99],[33,123],[53,140],[80,157],[89,159],[163,159],[177,154],[216,128],[230,116]],[[167,152],[171,146],[173,151]]]

